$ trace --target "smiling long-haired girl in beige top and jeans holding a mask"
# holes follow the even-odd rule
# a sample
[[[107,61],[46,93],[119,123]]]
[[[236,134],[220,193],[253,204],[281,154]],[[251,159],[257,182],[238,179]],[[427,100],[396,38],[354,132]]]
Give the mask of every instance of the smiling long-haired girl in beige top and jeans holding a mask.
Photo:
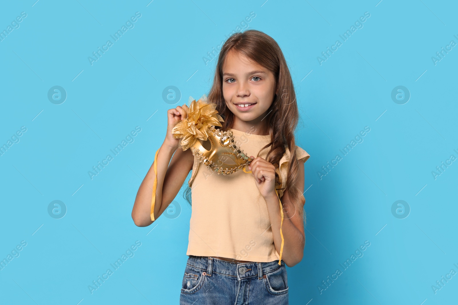
[[[137,226],[151,225],[192,171],[185,192],[192,212],[180,304],[288,304],[285,264],[292,267],[303,257],[304,162],[310,155],[295,145],[298,107],[275,40],[256,30],[229,37],[208,100],[224,118],[219,129],[232,131],[236,144],[254,158],[248,173],[218,175],[190,149],[178,149],[171,130],[189,108],[169,109],[164,143],[140,185],[132,219]]]

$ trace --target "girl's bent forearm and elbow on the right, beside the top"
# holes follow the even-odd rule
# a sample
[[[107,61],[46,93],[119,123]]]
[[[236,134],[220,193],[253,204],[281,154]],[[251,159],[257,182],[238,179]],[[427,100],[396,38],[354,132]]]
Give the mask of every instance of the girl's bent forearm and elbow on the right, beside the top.
[[[265,200],[267,203],[270,223],[272,225],[273,243],[275,244],[275,250],[280,253],[282,244],[282,237],[280,235],[280,202],[276,193]],[[299,263],[304,256],[304,236],[302,236],[300,230],[296,228],[293,222],[287,218],[285,213],[281,227],[284,240],[282,261],[284,261],[288,267],[293,267],[295,264]]]

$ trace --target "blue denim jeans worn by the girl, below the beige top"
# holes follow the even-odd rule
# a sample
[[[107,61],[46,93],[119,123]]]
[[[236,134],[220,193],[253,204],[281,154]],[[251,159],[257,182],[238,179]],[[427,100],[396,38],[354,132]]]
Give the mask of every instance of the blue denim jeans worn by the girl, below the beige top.
[[[180,305],[288,305],[284,262],[227,262],[190,255]]]

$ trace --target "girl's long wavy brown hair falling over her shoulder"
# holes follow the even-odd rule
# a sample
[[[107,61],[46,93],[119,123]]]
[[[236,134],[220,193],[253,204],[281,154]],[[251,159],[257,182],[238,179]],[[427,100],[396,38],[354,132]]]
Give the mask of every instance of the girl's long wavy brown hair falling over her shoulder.
[[[257,30],[234,33],[224,43],[216,64],[213,86],[207,95],[208,101],[218,105],[218,113],[224,118],[223,126],[219,129],[224,131],[232,128],[234,123],[234,114],[226,107],[223,96],[223,64],[230,50],[240,52],[257,64],[272,71],[275,76],[275,92],[278,92],[278,94],[274,96],[266,116],[272,142],[261,150],[271,147],[267,153],[266,160],[276,167],[275,184],[276,188],[279,189],[278,163],[284,155],[286,147],[288,147],[290,158],[284,191],[288,190],[289,200],[294,204],[293,209],[305,220],[303,209],[305,198],[295,187],[295,183],[298,180],[299,161],[295,150],[294,130],[298,123],[299,114],[293,80],[283,52],[272,37]],[[191,188],[189,186],[184,193],[184,197],[191,204]]]

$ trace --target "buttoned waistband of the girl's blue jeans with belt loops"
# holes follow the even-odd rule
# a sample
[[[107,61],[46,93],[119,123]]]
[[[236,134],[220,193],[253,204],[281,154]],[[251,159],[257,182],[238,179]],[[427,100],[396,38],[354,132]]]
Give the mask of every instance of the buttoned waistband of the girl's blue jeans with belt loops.
[[[278,261],[273,262],[227,262],[214,257],[202,257],[189,255],[187,264],[200,269],[212,276],[212,273],[232,276],[237,279],[257,277],[262,279],[263,275],[282,268],[284,262],[278,265]]]

